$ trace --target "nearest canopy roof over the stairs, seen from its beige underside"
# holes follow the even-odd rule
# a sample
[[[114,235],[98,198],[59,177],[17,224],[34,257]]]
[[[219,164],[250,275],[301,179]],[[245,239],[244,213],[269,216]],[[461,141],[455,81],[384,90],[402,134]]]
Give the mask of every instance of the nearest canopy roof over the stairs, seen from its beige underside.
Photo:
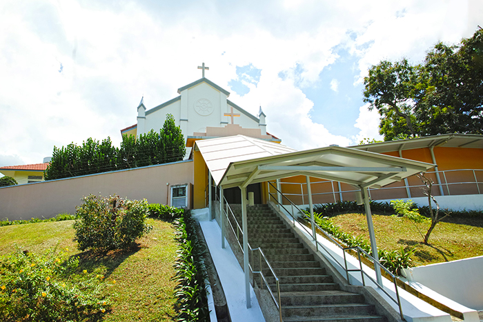
[[[435,166],[338,146],[268,156],[244,154],[242,158],[226,158],[216,168],[213,163],[207,162],[207,165],[212,174],[213,170],[216,171],[217,178],[223,172],[221,179],[215,182],[224,188],[298,175],[339,181],[359,188],[380,188]]]

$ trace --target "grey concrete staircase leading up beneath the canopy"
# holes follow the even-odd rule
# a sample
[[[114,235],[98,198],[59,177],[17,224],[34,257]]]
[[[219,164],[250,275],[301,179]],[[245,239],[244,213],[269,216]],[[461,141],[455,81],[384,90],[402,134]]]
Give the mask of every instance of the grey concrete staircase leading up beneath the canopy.
[[[232,209],[241,226],[241,207],[232,205]],[[387,321],[377,315],[374,305],[364,302],[362,294],[341,290],[329,270],[315,261],[268,205],[248,206],[247,210],[248,243],[262,248],[279,278],[284,321]],[[259,269],[257,261],[255,255],[255,270]],[[276,296],[275,278],[266,265],[262,265],[262,272]],[[255,281],[259,281],[257,276]]]

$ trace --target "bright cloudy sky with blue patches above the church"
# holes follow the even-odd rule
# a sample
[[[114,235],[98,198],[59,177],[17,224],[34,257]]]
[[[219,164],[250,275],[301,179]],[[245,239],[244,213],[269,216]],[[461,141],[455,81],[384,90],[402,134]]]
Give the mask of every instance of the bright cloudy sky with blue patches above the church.
[[[206,78],[304,150],[382,139],[363,102],[381,60],[419,63],[483,26],[483,1],[0,1],[0,166],[110,137]]]

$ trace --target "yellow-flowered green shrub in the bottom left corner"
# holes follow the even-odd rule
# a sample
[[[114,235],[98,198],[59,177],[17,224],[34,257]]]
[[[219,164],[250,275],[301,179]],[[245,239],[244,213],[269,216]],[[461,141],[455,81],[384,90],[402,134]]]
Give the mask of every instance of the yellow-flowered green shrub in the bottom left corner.
[[[110,303],[101,280],[76,278],[77,258],[17,250],[0,259],[1,321],[97,321]],[[85,275],[85,274],[84,274]]]

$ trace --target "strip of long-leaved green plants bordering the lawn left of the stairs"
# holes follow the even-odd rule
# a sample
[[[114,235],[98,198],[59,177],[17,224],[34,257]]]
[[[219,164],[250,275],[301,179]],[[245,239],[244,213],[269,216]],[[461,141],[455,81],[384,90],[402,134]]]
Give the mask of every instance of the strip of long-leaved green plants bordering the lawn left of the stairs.
[[[205,284],[208,274],[203,260],[206,250],[198,241],[196,225],[189,212],[175,221],[177,321],[210,321]]]

